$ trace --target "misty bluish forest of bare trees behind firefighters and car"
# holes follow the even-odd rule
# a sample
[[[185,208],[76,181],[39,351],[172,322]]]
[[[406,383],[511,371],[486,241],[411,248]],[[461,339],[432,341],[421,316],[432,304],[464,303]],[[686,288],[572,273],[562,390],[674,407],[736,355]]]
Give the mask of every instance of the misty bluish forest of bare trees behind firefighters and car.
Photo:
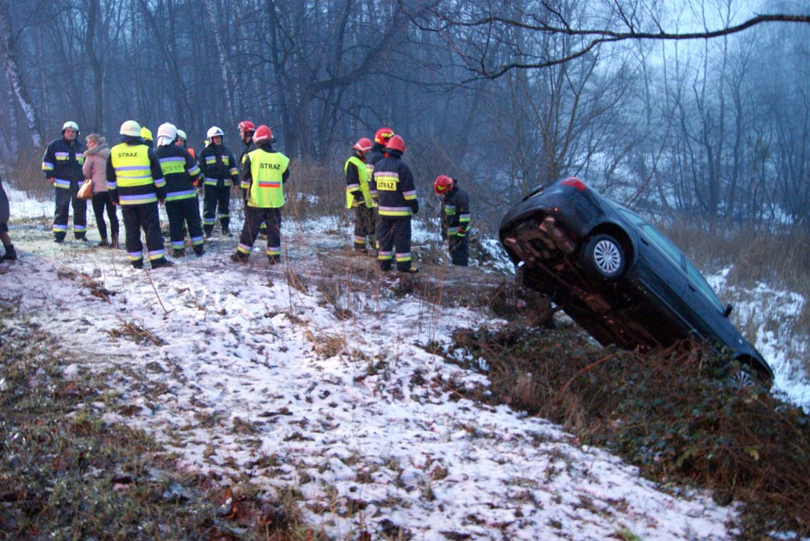
[[[250,119],[337,210],[349,147],[391,126],[421,197],[462,179],[488,233],[563,175],[663,223],[810,228],[804,2],[0,4],[0,152],[18,177],[66,120],[113,142],[127,119],[171,121],[192,147],[215,125],[234,149]],[[660,39],[689,32],[713,37]]]

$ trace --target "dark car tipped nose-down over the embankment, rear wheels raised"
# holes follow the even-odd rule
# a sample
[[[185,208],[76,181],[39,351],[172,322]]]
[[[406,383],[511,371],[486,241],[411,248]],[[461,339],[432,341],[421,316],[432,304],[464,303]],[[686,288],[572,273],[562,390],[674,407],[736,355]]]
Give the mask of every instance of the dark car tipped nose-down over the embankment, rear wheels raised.
[[[523,283],[554,302],[603,345],[708,343],[739,361],[741,383],[774,373],[728,319],[693,262],[645,219],[577,178],[540,186],[505,215],[501,244]]]

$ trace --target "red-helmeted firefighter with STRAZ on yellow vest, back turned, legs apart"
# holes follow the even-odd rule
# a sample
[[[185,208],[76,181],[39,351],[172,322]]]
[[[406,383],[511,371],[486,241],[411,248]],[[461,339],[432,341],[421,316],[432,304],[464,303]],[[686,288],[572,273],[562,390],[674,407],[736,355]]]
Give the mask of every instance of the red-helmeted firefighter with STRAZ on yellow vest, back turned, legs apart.
[[[235,262],[246,263],[261,224],[267,224],[267,259],[281,261],[281,207],[283,185],[290,176],[290,159],[273,149],[275,138],[267,126],[258,126],[253,137],[258,147],[245,156],[241,188],[245,194],[245,225],[242,227]]]

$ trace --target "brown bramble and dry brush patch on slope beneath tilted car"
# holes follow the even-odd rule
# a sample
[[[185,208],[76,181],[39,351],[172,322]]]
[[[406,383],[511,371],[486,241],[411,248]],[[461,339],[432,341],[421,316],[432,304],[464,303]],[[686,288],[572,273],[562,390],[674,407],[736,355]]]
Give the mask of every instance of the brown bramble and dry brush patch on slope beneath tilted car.
[[[463,361],[467,353],[486,363]],[[488,398],[602,445],[659,483],[742,501],[743,539],[810,535],[810,417],[760,388],[739,388],[704,351],[642,355],[595,347],[576,328],[459,331],[448,355],[487,366]]]

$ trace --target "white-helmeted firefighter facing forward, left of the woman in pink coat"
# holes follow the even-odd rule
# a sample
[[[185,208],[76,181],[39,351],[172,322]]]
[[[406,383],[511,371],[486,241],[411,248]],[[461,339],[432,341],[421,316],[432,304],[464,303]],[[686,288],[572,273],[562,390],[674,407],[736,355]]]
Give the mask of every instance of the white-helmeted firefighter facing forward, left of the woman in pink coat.
[[[77,241],[87,242],[87,201],[76,197],[84,181],[82,165],[86,150],[87,147],[79,143],[79,125],[66,121],[62,126],[62,138],[51,141],[42,156],[45,179],[53,184],[56,193],[54,242],[65,241],[70,206],[73,207],[73,236]]]

